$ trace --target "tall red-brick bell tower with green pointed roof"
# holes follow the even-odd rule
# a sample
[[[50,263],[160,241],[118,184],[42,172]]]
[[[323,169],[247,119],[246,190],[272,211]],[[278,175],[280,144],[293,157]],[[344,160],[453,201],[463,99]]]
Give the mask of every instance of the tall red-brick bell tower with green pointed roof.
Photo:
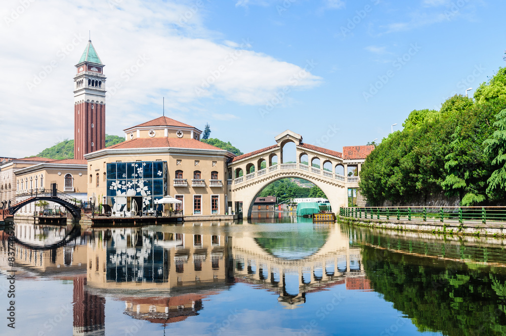
[[[88,41],[75,66],[74,77],[74,158],[105,148],[104,64],[92,41]]]

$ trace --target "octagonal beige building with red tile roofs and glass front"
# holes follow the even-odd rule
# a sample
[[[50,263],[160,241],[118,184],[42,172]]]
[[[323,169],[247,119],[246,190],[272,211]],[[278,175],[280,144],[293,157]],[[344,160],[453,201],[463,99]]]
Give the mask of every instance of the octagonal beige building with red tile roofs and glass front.
[[[167,117],[124,130],[125,142],[85,155],[88,197],[113,216],[163,211],[165,195],[184,216],[225,215],[227,161],[235,155],[200,141],[201,131]]]

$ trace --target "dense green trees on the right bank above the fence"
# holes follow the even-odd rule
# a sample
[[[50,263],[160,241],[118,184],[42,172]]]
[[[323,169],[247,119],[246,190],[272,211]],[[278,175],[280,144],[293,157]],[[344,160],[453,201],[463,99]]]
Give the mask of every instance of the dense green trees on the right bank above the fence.
[[[414,110],[362,165],[361,193],[371,205],[409,205],[445,194],[461,205],[505,204],[506,68],[470,97],[439,110]]]

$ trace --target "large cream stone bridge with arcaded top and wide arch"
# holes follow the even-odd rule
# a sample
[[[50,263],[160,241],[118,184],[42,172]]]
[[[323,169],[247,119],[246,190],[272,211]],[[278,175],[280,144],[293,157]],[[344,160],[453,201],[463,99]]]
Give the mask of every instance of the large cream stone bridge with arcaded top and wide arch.
[[[348,188],[358,188],[359,172],[374,146],[343,147],[343,153],[306,144],[289,130],[275,137],[276,144],[239,155],[228,165],[230,201],[242,202],[250,218],[253,203],[268,184],[284,178],[302,178],[317,185],[327,196],[332,211],[348,205]],[[283,147],[296,145],[296,162],[283,161]],[[351,169],[351,172],[350,172]],[[350,174],[351,173],[351,174]],[[348,176],[351,175],[351,176]]]

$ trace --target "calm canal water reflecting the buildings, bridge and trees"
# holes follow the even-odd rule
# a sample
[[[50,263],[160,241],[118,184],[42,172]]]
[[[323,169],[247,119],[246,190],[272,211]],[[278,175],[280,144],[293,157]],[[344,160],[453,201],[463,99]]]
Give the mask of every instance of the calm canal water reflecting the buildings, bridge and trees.
[[[17,222],[2,335],[504,335],[500,239],[244,222]],[[15,299],[7,299],[15,270]],[[6,310],[14,300],[15,329]]]

